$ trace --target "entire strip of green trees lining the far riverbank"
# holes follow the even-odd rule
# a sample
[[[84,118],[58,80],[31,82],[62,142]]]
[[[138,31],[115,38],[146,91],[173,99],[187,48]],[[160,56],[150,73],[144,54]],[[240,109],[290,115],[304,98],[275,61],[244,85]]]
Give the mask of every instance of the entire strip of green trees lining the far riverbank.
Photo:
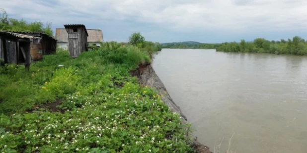
[[[221,44],[186,44],[169,43],[162,44],[164,49],[216,49],[225,52],[253,52],[253,53],[275,53],[307,55],[307,41],[299,36],[292,39],[280,41],[269,41],[257,38],[252,42],[241,40],[240,42],[226,42]]]

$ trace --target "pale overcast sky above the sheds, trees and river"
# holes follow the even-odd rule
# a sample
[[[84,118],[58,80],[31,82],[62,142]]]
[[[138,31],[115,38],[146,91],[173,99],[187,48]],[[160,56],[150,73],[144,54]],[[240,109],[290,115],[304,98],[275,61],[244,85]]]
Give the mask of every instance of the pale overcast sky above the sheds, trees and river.
[[[0,0],[10,17],[84,24],[105,41],[141,32],[154,42],[307,38],[307,0]]]

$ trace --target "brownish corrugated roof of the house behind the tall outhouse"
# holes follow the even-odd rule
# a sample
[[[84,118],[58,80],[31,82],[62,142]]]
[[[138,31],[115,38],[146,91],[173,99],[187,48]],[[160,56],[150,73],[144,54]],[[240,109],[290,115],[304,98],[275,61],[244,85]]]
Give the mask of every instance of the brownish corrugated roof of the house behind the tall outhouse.
[[[103,42],[102,30],[99,29],[87,29],[88,33],[87,42]],[[66,29],[56,29],[56,39],[58,42],[68,42],[68,36]]]

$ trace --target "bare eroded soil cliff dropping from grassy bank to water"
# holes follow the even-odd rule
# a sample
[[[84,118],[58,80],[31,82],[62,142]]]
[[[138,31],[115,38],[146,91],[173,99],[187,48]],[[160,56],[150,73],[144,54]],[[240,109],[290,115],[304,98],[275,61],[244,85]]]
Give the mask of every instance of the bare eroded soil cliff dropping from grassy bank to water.
[[[182,122],[184,124],[187,123],[186,116],[181,112],[180,107],[176,105],[175,102],[170,98],[169,94],[166,91],[166,88],[160,78],[155,74],[152,65],[140,65],[136,70],[130,72],[132,76],[136,76],[139,78],[140,84],[143,86],[149,86],[156,89],[159,94],[162,96],[162,101],[166,103],[174,112],[181,114]],[[197,137],[193,136],[195,141],[192,145],[193,148],[196,149],[198,153],[212,153],[209,148],[200,144],[197,141]]]

